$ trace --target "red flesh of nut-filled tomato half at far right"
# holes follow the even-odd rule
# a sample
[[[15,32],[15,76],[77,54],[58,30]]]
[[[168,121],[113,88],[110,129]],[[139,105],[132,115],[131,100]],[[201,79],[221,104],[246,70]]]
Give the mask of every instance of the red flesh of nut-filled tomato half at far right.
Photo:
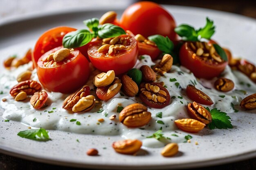
[[[190,48],[189,43],[185,42],[180,49],[180,62],[182,66],[194,73],[195,77],[211,79],[224,71],[227,62],[203,60]]]

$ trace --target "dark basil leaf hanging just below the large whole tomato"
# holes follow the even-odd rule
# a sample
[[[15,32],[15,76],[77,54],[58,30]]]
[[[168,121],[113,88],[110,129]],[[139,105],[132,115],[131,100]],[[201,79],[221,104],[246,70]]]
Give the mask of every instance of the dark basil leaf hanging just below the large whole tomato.
[[[148,40],[155,42],[157,48],[164,53],[170,54],[173,51],[173,42],[167,36],[151,35],[148,37]]]

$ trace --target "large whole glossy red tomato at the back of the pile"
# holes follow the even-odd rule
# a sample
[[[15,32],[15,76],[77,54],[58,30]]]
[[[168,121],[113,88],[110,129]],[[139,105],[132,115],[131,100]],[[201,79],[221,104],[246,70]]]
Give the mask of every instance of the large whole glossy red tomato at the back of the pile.
[[[120,25],[132,33],[144,37],[160,34],[176,39],[176,23],[165,9],[154,2],[137,2],[128,7],[120,20]]]

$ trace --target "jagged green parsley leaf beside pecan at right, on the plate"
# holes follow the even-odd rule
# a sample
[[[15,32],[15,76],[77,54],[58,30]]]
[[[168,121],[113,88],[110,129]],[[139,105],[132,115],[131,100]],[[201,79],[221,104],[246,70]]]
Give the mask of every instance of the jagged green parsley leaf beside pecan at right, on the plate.
[[[210,110],[208,107],[206,109]],[[227,115],[227,113],[221,112],[217,108],[211,109],[210,113],[211,113],[211,117],[212,117],[212,121],[208,125],[210,129],[215,129],[215,128],[218,128],[218,129],[233,128],[233,126],[231,124],[231,121],[229,120],[231,118]]]

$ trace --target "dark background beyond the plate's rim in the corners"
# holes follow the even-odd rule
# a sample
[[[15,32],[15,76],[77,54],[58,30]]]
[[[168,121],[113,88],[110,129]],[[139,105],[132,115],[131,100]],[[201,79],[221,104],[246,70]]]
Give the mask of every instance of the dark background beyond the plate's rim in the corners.
[[[153,0],[153,2],[157,2],[159,4],[173,4],[215,9],[256,18],[256,0]],[[196,168],[190,170],[205,169],[256,170],[256,158],[220,166],[211,166],[207,168]],[[54,166],[0,154],[0,170],[80,170],[80,168]]]

